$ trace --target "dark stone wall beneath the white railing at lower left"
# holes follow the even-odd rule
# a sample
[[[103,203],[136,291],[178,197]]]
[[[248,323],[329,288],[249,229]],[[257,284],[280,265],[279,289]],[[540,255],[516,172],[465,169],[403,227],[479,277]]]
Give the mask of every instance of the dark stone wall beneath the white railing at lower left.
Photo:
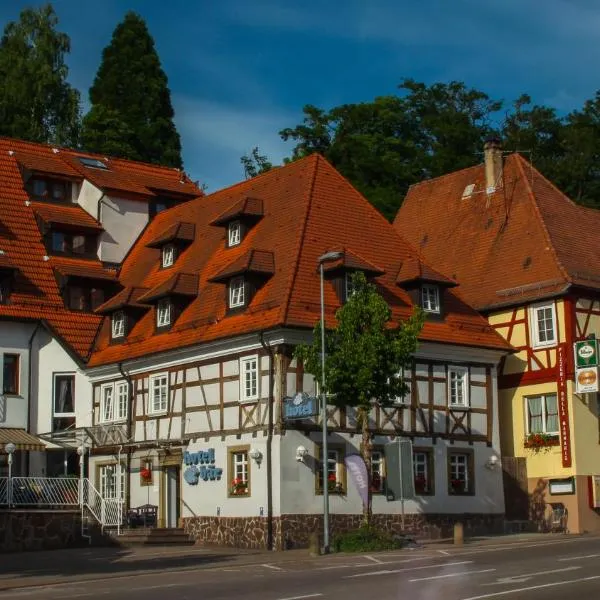
[[[0,512],[0,552],[51,550],[89,545],[81,537],[79,511]]]

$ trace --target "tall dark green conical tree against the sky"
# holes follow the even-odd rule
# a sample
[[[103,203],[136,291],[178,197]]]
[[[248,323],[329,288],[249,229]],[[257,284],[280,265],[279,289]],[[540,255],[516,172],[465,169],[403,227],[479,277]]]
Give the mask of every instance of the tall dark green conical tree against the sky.
[[[125,15],[104,49],[90,101],[82,133],[87,150],[181,168],[167,76],[136,13]]]

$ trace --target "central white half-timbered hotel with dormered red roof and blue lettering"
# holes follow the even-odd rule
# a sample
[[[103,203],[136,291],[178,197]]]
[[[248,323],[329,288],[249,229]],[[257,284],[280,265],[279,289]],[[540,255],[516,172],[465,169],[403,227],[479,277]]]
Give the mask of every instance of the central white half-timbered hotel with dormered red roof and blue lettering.
[[[318,258],[328,326],[363,271],[396,323],[421,305],[428,318],[410,393],[375,405],[373,512],[397,529],[402,507],[383,493],[384,446],[413,442],[417,496],[406,527],[440,532],[461,519],[502,521],[497,365],[510,345],[423,262],[323,158],[314,155],[159,214],[119,273],[88,370],[102,435],[90,478],[126,507],[158,507],[158,525],[183,524],[204,542],[285,548],[307,543],[331,492],[333,531],[358,524],[344,456],[359,444],[352,409],[288,422],[282,402],[315,393],[293,358],[320,317]],[[328,465],[323,482],[321,461]]]

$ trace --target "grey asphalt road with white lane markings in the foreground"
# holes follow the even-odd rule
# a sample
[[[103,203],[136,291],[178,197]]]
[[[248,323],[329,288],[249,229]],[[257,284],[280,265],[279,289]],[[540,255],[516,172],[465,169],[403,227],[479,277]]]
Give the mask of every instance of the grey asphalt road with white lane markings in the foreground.
[[[231,565],[0,593],[1,600],[563,600],[600,598],[600,538]]]

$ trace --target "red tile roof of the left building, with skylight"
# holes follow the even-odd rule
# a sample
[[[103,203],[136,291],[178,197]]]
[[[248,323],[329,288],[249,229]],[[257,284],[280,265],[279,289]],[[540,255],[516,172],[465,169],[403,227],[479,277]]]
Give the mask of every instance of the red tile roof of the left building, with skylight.
[[[17,269],[10,304],[0,304],[0,319],[42,321],[75,358],[85,362],[102,317],[65,308],[55,273],[114,281],[115,272],[107,271],[99,261],[58,257],[44,260],[46,248],[36,213],[43,220],[58,222],[60,219],[74,226],[97,228],[98,222],[75,205],[29,202],[23,181],[24,170],[28,170],[70,179],[86,178],[100,185],[96,177],[100,170],[83,166],[78,156],[107,162],[109,171],[103,172],[100,187],[105,185],[118,190],[135,187],[144,198],[156,196],[154,190],[183,193],[187,197],[197,197],[201,192],[175,169],[105,159],[64,148],[54,152],[52,146],[0,137],[0,250],[5,252],[0,256]]]

